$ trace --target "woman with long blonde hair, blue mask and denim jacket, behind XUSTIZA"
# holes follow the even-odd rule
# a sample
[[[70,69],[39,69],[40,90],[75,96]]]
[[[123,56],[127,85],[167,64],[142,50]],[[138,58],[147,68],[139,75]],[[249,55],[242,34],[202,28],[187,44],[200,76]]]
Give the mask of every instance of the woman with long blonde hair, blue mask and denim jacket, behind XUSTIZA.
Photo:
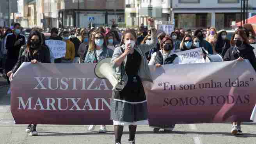
[[[85,60],[84,63],[97,63],[99,60],[112,57],[113,50],[107,48],[106,38],[103,35],[104,33],[95,32],[92,35],[92,39],[89,44],[88,50],[85,52]],[[94,130],[96,125],[90,125],[88,127],[89,131]],[[100,125],[100,133],[107,132],[105,125]]]

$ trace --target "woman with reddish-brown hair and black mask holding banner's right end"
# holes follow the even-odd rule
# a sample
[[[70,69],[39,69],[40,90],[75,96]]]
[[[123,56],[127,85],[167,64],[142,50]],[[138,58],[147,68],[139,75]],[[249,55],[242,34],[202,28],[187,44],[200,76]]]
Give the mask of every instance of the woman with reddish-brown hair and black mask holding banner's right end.
[[[249,40],[244,30],[238,29],[232,39],[231,47],[228,49],[224,56],[224,61],[238,60],[243,61],[249,60],[254,70],[256,70],[256,58],[253,52],[254,47],[250,46]],[[233,135],[242,135],[241,122],[233,122],[231,133]]]

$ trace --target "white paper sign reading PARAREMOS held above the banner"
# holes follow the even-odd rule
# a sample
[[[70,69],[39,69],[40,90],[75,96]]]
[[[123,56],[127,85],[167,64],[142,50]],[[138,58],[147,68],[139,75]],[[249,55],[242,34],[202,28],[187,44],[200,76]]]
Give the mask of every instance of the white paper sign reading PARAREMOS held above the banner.
[[[203,50],[201,47],[187,51],[181,51],[176,54],[179,57],[179,64],[205,63]]]

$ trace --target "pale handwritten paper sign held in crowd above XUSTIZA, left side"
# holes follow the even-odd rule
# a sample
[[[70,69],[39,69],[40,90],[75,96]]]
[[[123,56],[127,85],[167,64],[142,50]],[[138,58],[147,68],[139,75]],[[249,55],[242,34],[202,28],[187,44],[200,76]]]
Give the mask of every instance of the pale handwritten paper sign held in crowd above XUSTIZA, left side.
[[[54,58],[62,58],[66,55],[66,42],[61,40],[45,40],[45,44],[52,51]]]

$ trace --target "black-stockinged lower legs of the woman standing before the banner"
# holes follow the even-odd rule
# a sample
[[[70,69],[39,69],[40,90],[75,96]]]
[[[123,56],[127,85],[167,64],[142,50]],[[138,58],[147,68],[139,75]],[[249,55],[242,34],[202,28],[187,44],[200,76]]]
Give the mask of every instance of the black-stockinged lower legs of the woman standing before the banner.
[[[115,128],[116,142],[121,143],[124,126],[115,125],[114,128]],[[129,141],[132,141],[135,139],[136,129],[137,129],[137,125],[129,125]]]

